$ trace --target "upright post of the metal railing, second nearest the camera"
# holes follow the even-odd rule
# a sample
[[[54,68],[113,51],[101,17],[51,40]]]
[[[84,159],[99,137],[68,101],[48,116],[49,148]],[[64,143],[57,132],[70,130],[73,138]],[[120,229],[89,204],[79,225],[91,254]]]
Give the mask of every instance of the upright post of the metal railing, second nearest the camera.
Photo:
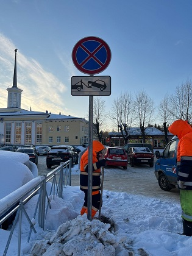
[[[44,230],[47,174],[42,174],[41,176],[44,176],[44,177],[43,177],[43,182],[41,183],[41,199],[40,199],[40,204],[39,204],[38,223],[39,223],[40,227]]]

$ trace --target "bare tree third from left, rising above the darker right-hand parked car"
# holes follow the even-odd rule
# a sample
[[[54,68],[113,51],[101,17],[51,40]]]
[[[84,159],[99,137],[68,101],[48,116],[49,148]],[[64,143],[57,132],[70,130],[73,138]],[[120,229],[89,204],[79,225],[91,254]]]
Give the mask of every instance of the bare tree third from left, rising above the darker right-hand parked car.
[[[142,90],[136,94],[134,105],[137,126],[141,129],[141,136],[143,138],[143,143],[145,143],[145,130],[153,121],[152,113],[154,113],[154,101],[152,101],[148,94]]]

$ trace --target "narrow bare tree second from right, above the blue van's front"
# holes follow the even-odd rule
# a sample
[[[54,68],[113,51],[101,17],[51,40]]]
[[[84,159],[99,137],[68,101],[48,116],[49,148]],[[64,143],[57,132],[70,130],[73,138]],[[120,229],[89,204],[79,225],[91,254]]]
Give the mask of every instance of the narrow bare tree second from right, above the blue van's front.
[[[158,114],[160,116],[160,120],[162,120],[162,123],[163,123],[166,144],[168,144],[169,142],[167,123],[169,123],[169,121],[171,120],[171,114],[169,112],[169,104],[170,104],[169,96],[166,95],[162,99],[162,101],[160,101],[160,104],[158,107]]]

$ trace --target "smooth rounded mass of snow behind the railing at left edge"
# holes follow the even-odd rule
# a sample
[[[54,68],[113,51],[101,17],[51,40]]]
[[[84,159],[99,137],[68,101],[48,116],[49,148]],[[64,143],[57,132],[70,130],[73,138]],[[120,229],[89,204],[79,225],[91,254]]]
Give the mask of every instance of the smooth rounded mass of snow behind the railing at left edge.
[[[0,151],[0,162],[0,199],[38,176],[37,166],[29,161],[27,154]]]

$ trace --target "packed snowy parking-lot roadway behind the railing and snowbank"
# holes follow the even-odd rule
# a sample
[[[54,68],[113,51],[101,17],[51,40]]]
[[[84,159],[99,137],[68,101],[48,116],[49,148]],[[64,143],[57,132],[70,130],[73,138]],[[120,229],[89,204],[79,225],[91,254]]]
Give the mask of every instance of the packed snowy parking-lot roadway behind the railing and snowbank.
[[[38,157],[38,175],[48,173],[51,169],[46,168],[46,156]],[[79,174],[71,176],[71,185],[79,186]],[[159,199],[172,200],[179,202],[179,189],[163,191],[158,186],[158,180],[154,174],[154,168],[149,165],[138,165],[127,170],[121,168],[104,168],[104,190],[126,192],[130,194],[141,194]]]

